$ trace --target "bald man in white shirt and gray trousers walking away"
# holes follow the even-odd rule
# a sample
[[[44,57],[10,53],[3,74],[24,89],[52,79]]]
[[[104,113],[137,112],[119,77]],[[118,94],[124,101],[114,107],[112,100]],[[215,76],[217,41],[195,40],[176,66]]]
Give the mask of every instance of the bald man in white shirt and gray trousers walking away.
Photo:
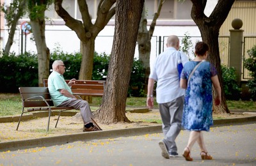
[[[182,62],[183,66],[188,62],[188,57],[179,51],[179,38],[175,35],[169,36],[166,50],[157,56],[154,68],[148,79],[147,106],[153,108],[154,82],[157,81],[156,101],[161,114],[164,139],[159,141],[164,158],[176,157],[176,137],[179,135],[182,121],[184,103],[184,89],[180,88],[179,72],[177,65]]]

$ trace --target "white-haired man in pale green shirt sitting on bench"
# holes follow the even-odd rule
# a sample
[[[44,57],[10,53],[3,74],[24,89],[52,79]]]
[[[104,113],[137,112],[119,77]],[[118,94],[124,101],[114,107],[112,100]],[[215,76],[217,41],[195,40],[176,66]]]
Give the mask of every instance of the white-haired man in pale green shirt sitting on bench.
[[[70,86],[75,84],[76,79],[70,80],[67,84],[63,77],[63,73],[65,73],[65,64],[63,61],[54,61],[54,63],[52,63],[52,73],[48,78],[48,89],[54,106],[80,109],[84,122],[83,132],[99,131],[100,129],[97,128],[97,126],[94,126],[92,122],[93,115],[88,102],[77,99],[76,96],[72,94]]]

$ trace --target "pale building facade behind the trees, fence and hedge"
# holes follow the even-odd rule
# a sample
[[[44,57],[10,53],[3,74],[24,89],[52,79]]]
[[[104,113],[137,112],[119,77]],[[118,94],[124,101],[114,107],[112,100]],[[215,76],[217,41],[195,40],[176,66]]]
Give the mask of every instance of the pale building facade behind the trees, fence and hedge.
[[[12,0],[1,0],[1,4],[10,3]],[[148,26],[154,17],[154,13],[157,11],[159,0],[145,0],[145,9],[148,19]],[[86,0],[88,4],[90,15],[92,20],[95,21],[97,18],[97,7],[100,0]],[[209,16],[211,11],[216,6],[218,0],[207,1],[207,6],[205,8],[205,15]],[[165,43],[167,36],[170,34],[175,34],[180,37],[180,39],[186,33],[191,36],[193,44],[196,41],[201,40],[200,31],[196,26],[195,22],[191,19],[191,1],[178,1],[178,0],[166,0],[164,3],[159,19],[157,19],[157,24],[152,37],[152,51],[151,60],[165,49]],[[68,13],[74,17],[74,19],[81,20],[81,13],[79,11],[79,6],[77,0],[63,0],[63,7]],[[225,20],[223,26],[220,29],[220,56],[221,62],[228,65],[229,54],[229,36],[230,29],[233,29],[231,22],[234,19],[243,20],[244,30],[244,55],[246,56],[246,50],[252,48],[255,45],[255,38],[249,38],[249,36],[256,36],[256,1],[235,1],[230,10],[230,13]],[[65,22],[61,19],[56,11],[54,11],[54,5],[49,6],[49,10],[45,11],[45,16],[49,18],[46,22],[45,27],[45,38],[47,47],[53,52],[54,50],[63,50],[63,52],[79,52],[80,41],[77,38],[76,33],[71,31]],[[17,26],[17,31],[15,32],[14,42],[12,45],[11,52],[20,54],[22,51],[26,50],[28,52],[36,52],[35,41],[31,40],[33,34],[22,34],[20,24],[24,22],[29,22],[28,14],[22,17]],[[8,31],[5,26],[6,22],[4,20],[4,15],[1,13],[1,45],[0,49],[4,49],[4,45],[8,39]],[[115,16],[109,21],[108,25],[99,33],[95,40],[95,51],[96,52],[106,52],[110,54],[113,42],[113,35],[115,31]],[[161,39],[159,38],[161,36]],[[23,38],[22,38],[23,37]],[[68,40],[67,40],[68,39]],[[193,48],[191,48],[191,51]],[[135,57],[138,57],[138,49],[136,48]]]

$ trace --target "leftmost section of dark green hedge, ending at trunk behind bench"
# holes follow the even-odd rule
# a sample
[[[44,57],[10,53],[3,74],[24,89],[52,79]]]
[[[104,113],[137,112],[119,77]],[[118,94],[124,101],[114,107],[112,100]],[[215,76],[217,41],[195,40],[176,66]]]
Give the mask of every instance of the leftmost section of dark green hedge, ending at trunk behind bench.
[[[0,91],[17,93],[20,86],[38,86],[37,56],[26,52],[0,57]]]

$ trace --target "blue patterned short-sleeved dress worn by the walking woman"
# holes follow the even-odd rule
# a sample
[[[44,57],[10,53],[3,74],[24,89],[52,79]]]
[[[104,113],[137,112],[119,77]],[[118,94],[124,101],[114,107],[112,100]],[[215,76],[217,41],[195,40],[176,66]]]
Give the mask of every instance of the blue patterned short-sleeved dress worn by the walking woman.
[[[189,61],[184,65],[181,78],[188,80],[190,73],[198,61]],[[212,120],[212,80],[217,75],[216,68],[209,62],[201,63],[191,76],[188,83],[182,126],[186,130],[207,131],[213,124]]]

